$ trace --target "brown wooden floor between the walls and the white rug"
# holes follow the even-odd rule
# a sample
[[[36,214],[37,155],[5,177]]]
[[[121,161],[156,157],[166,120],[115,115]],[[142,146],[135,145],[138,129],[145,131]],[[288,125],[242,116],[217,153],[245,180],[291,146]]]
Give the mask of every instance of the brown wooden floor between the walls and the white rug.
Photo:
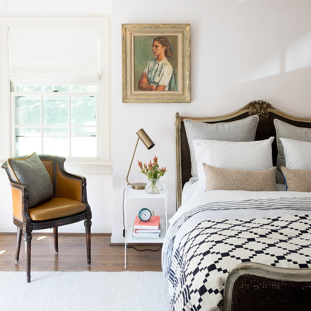
[[[138,252],[127,250],[124,269],[124,244],[109,245],[110,235],[91,237],[91,266],[86,261],[85,235],[59,235],[58,254],[54,250],[53,235],[33,234],[31,240],[32,271],[162,271],[161,249]],[[15,264],[16,235],[0,234],[0,271],[26,271],[25,242],[22,238],[19,263]],[[136,248],[158,249],[147,245]]]

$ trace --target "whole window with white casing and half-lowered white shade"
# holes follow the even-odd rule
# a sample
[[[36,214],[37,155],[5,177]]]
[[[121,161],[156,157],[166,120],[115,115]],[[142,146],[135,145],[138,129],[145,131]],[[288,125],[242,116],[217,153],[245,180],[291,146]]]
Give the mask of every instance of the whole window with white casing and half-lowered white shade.
[[[109,28],[109,16],[0,16],[0,159],[36,151],[111,174]]]

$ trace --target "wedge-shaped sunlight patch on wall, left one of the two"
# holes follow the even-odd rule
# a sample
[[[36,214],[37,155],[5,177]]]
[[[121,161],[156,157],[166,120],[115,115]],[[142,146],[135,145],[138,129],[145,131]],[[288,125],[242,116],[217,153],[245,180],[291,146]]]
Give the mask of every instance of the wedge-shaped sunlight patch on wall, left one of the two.
[[[243,70],[243,69],[242,69]],[[246,70],[245,70],[246,71]],[[249,72],[237,79],[233,84],[258,80],[265,77],[278,75],[280,73],[280,54],[277,54],[264,63],[258,64],[255,68],[251,68]]]

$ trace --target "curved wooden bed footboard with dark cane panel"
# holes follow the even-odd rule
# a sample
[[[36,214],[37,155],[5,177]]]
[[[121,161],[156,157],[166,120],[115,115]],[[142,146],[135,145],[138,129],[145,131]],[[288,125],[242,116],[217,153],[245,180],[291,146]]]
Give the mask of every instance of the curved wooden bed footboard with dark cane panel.
[[[223,311],[309,311],[311,269],[257,262],[236,266],[225,281]]]

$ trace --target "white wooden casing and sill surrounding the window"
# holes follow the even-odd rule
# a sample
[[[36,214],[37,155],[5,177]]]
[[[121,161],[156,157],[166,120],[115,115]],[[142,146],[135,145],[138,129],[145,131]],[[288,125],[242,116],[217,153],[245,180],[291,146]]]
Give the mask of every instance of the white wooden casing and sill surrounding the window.
[[[97,144],[99,160],[75,161],[67,159],[67,170],[80,174],[112,174],[111,143],[111,21],[109,15],[96,16],[0,16],[0,159],[2,162],[15,156],[13,133],[14,115],[10,107],[9,69],[9,28],[10,27],[97,27],[100,34],[100,85],[96,102]],[[16,94],[16,93],[15,93]],[[61,93],[60,93],[61,94]],[[59,94],[59,95],[60,95]],[[29,94],[30,95],[30,94]],[[14,96],[12,96],[14,98]],[[15,103],[12,103],[15,106]],[[13,121],[13,122],[12,122]],[[13,135],[14,134],[14,135]],[[15,144],[14,144],[15,145]],[[1,170],[4,171],[4,170]],[[1,172],[3,173],[3,172]]]

